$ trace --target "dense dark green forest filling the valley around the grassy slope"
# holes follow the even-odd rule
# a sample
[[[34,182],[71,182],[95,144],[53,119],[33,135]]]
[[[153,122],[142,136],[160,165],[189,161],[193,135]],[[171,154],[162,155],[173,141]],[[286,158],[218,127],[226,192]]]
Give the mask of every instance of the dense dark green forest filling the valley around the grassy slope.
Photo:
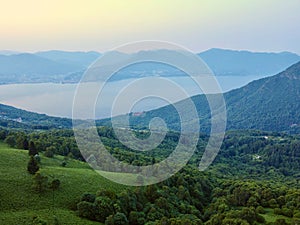
[[[136,152],[123,146],[112,128],[98,127],[98,133],[111,154],[133,165],[163,160],[179,139],[179,133],[169,132],[154,150]],[[139,138],[149,135],[146,131],[135,134]],[[85,161],[72,130],[25,133],[1,129],[0,139],[28,150],[28,165],[37,165],[32,174],[40,174],[38,158],[33,157],[37,154],[64,156],[62,167],[68,167],[68,158]],[[100,188],[82,193],[73,210],[80,217],[105,224],[299,224],[299,135],[229,131],[214,163],[200,172],[197,166],[207,141],[208,136],[201,134],[188,165],[173,177],[121,192]],[[136,179],[142,182],[140,176]]]

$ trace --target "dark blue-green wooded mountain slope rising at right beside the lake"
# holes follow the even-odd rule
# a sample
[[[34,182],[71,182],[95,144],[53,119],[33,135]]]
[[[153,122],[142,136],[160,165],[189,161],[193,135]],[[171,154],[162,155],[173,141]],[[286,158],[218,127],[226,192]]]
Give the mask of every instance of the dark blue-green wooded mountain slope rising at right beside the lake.
[[[300,62],[271,77],[253,81],[224,94],[227,129],[300,132]],[[186,100],[176,104],[184,105]],[[210,108],[205,95],[192,97],[203,132],[210,131]],[[186,112],[188,113],[188,112]],[[152,118],[162,118],[169,129],[180,130],[180,118],[173,105],[130,115],[131,126],[147,129]],[[110,126],[110,119],[99,120]]]

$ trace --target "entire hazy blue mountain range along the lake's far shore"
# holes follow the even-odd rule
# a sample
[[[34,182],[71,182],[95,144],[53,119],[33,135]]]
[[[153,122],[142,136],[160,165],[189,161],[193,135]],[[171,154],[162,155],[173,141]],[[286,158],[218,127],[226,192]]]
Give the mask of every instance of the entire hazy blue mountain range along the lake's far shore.
[[[122,54],[122,53],[121,53]],[[290,53],[255,53],[224,49],[210,49],[198,54],[217,76],[276,74],[300,61]],[[18,53],[0,51],[0,83],[76,83],[83,72],[99,56],[98,52],[44,51]],[[120,71],[112,80],[145,76],[182,76],[170,66],[145,63]]]

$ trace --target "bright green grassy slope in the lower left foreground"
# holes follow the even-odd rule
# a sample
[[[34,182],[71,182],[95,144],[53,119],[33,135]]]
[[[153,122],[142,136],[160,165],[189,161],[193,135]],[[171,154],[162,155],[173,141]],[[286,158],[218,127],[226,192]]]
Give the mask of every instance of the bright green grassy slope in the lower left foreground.
[[[1,224],[32,224],[38,216],[52,224],[53,216],[61,224],[99,224],[81,219],[72,211],[78,198],[85,192],[95,193],[100,188],[121,191],[123,186],[101,177],[90,167],[76,160],[69,160],[65,168],[62,157],[49,159],[42,156],[41,173],[61,181],[60,189],[41,195],[32,189],[32,175],[27,173],[28,152],[11,149],[0,143],[0,221]]]

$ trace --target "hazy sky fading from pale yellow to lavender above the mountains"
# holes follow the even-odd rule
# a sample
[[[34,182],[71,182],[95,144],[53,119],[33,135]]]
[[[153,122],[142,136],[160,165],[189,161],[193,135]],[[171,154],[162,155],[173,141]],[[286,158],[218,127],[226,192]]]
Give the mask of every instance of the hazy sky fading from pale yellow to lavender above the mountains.
[[[0,0],[0,49],[107,51],[139,40],[300,54],[300,0]]]

